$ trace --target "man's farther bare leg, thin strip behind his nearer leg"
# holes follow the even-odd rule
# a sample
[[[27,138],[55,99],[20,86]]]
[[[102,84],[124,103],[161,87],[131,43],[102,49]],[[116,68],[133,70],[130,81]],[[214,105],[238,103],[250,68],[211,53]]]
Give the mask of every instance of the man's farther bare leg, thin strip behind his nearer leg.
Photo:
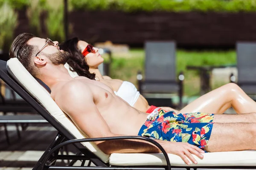
[[[256,123],[256,113],[247,114],[215,114],[215,123]]]

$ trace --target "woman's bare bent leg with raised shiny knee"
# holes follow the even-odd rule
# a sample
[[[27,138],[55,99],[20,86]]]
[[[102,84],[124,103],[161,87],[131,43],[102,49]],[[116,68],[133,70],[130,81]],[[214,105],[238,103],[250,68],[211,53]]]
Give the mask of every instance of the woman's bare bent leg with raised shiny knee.
[[[180,113],[224,113],[233,107],[236,113],[256,113],[256,102],[234,83],[228,83],[207,94],[180,110]]]

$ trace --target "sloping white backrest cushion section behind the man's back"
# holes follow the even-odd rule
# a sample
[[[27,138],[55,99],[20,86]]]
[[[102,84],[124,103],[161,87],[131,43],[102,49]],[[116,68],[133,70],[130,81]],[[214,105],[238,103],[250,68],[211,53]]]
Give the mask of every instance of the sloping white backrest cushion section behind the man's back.
[[[16,79],[23,88],[31,94],[60,124],[62,124],[77,139],[87,138],[72,122],[72,120],[61,111],[51,98],[50,94],[35,80],[34,77],[23,67],[17,58],[7,61],[7,71]],[[93,142],[84,142],[85,147],[92,151],[104,162],[108,162],[109,155],[103,153]]]

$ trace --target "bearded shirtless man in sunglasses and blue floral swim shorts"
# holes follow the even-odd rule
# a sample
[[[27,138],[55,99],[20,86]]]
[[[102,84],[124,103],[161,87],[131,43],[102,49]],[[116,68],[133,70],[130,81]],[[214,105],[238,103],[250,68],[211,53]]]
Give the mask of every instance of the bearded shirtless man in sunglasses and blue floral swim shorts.
[[[255,113],[176,114],[164,113],[160,109],[151,115],[141,113],[101,82],[85,77],[70,77],[64,68],[69,54],[59,50],[58,42],[28,33],[16,37],[10,57],[17,57],[32,76],[49,86],[52,99],[79,130],[90,138],[139,134],[155,140],[162,139],[157,142],[166,152],[180,156],[187,164],[190,164],[188,159],[197,164],[192,154],[203,159],[201,153],[204,150],[215,152],[256,149]],[[169,141],[163,141],[164,139]],[[107,154],[160,152],[152,144],[137,140],[95,143]]]

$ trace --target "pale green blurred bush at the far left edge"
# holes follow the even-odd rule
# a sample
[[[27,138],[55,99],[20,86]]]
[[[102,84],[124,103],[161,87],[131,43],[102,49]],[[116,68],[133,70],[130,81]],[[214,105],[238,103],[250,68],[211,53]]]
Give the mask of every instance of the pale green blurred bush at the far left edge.
[[[17,26],[17,13],[9,3],[3,2],[0,6],[0,49],[9,48],[13,33]]]

